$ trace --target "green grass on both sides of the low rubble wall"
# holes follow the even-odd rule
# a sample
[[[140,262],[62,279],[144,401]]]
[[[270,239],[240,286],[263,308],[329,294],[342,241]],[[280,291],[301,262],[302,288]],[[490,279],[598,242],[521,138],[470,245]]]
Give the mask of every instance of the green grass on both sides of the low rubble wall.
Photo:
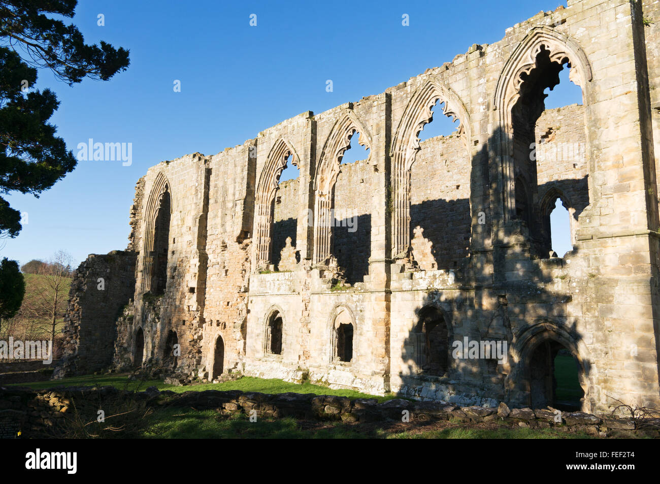
[[[278,394],[296,392],[302,394],[335,395],[348,398],[376,398],[387,401],[389,396],[371,396],[352,390],[332,390],[310,383],[295,384],[282,380],[242,377],[238,380],[218,384],[172,386],[161,380],[131,380],[127,374],[87,375],[62,380],[21,384],[35,390],[54,386],[114,386],[122,390],[144,390],[156,386],[159,390],[187,392],[190,390],[242,390]],[[144,409],[143,409],[144,411]],[[251,422],[248,415],[228,417],[216,410],[186,408],[147,409],[139,415],[135,411],[129,421],[117,421],[124,431],[108,432],[101,424],[91,422],[77,437],[121,438],[590,438],[583,433],[570,433],[557,429],[528,429],[509,427],[497,422],[468,424],[458,421],[419,421],[411,423],[343,423],[327,421],[261,418]],[[129,415],[127,415],[129,417]],[[98,427],[98,428],[97,428]]]

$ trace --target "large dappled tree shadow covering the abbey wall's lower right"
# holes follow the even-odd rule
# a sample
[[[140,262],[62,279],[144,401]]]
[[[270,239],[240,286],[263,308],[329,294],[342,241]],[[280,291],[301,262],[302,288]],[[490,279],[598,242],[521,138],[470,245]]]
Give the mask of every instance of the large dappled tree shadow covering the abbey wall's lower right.
[[[499,136],[489,142],[495,139]],[[497,173],[488,166],[487,150],[484,146],[473,159],[471,186],[500,191],[501,182],[490,179],[485,184],[483,180],[484,174]],[[586,180],[575,182],[587,190]],[[475,209],[475,220],[480,211],[490,213],[487,204],[491,199],[488,193],[473,195],[473,201],[481,204]],[[442,233],[452,227],[439,214],[471,219],[465,214],[469,207],[467,199],[422,203],[412,211],[413,223],[440,227],[425,230],[424,236],[444,244],[447,238]],[[459,263],[457,271],[426,274],[436,282],[420,287],[426,294],[414,308],[412,328],[407,329],[401,343],[402,396],[460,405],[505,401],[513,407],[561,406],[566,402],[558,401],[557,378],[562,376],[557,374],[554,361],[562,349],[576,359],[579,386],[587,390],[591,364],[583,335],[576,329],[577,320],[568,315],[572,296],[563,270],[566,258],[536,258],[525,224],[518,220],[494,222],[486,216],[482,225],[475,225],[471,255]],[[506,240],[499,240],[500,232],[492,230],[493,226],[508,233],[503,238]],[[490,240],[491,235],[492,248],[479,247],[486,245],[481,241]],[[567,254],[576,255],[577,250]],[[416,284],[417,279],[410,277]],[[498,351],[504,356],[500,361]],[[446,363],[429,363],[438,359]],[[581,402],[568,402],[565,409],[589,411],[594,403],[594,396],[587,394]]]

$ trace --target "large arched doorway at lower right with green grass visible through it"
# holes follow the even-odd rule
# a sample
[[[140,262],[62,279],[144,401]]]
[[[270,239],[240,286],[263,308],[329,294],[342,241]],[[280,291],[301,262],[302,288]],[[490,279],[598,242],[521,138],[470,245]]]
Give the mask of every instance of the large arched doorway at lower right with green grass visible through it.
[[[531,350],[527,362],[532,408],[581,409],[581,365],[570,349],[555,339],[544,338]]]

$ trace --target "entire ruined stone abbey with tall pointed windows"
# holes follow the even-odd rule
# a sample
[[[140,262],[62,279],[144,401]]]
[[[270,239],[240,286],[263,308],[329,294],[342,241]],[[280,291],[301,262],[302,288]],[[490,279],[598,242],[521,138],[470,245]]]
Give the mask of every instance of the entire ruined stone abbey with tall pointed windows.
[[[57,374],[545,407],[562,351],[583,411],[660,408],[659,29],[659,0],[568,0],[381,94],[152,166],[127,249],[77,270]],[[546,110],[562,69],[583,100]],[[420,141],[434,112],[457,130]],[[342,163],[353,135],[368,156]]]

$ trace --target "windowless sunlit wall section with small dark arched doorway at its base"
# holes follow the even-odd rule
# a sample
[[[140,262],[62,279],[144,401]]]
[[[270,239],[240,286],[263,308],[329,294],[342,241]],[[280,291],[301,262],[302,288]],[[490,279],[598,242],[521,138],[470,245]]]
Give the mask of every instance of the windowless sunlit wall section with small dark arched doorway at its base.
[[[251,270],[250,237],[255,190],[255,140],[211,157],[209,182],[205,325],[198,376],[242,371],[246,341],[246,293]],[[216,349],[220,351],[216,352]],[[222,359],[222,362],[216,362]],[[221,366],[218,366],[220,365]]]

